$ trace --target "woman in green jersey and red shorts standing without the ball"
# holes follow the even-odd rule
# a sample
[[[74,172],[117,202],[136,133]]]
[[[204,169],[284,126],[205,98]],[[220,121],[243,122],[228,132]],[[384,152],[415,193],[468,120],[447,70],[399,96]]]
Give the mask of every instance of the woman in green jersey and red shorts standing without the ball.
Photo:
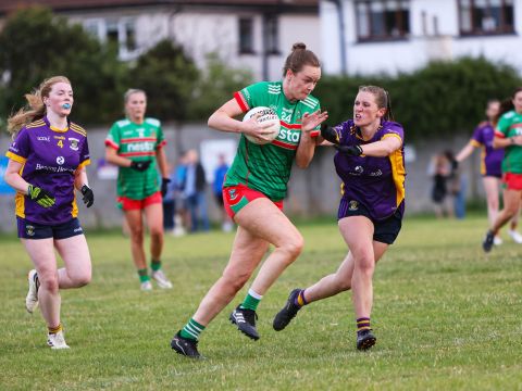
[[[117,202],[125,213],[130,231],[130,250],[138,270],[141,290],[152,289],[150,277],[160,288],[172,288],[161,269],[163,250],[163,205],[170,182],[165,140],[158,119],[145,117],[147,96],[139,89],[129,89],[124,96],[126,118],[116,121],[105,139],[105,159],[120,167]],[[159,167],[162,180],[159,180]],[[144,218],[150,232],[151,275],[147,269],[144,250]]]

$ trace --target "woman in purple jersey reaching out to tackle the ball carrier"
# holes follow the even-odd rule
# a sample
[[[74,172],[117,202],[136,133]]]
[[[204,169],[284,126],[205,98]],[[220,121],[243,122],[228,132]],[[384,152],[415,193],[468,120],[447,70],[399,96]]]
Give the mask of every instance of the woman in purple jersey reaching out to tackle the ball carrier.
[[[370,325],[372,278],[376,262],[397,238],[405,210],[402,126],[391,119],[388,93],[381,87],[359,88],[353,119],[323,127],[324,144],[334,144],[335,168],[343,180],[338,226],[349,252],[337,272],[307,289],[294,289],[274,318],[283,330],[306,304],[351,288],[359,350],[376,338]]]

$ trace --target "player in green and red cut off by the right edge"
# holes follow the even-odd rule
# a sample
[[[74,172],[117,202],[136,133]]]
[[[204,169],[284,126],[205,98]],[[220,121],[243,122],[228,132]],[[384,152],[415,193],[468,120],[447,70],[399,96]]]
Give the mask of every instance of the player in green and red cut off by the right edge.
[[[502,102],[495,128],[494,148],[505,148],[502,160],[504,209],[486,232],[482,243],[485,252],[493,248],[495,236],[518,212],[522,198],[522,87]]]

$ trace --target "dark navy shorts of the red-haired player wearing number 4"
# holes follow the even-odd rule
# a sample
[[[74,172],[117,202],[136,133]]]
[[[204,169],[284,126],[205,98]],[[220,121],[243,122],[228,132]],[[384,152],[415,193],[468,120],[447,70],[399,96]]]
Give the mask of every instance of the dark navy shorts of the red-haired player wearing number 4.
[[[84,235],[77,218],[72,218],[62,224],[46,225],[32,223],[16,216],[16,225],[21,239],[67,239],[76,235]]]

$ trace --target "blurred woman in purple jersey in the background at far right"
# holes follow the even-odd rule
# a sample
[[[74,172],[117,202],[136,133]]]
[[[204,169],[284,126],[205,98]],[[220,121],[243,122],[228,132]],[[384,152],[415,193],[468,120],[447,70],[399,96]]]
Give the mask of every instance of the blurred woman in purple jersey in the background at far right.
[[[487,218],[489,225],[493,225],[498,215],[499,210],[499,194],[500,184],[502,177],[502,159],[504,149],[493,148],[493,139],[495,138],[495,125],[496,117],[500,111],[500,101],[492,99],[486,105],[487,121],[482,122],[473,131],[470,142],[460,150],[456,156],[458,163],[463,162],[470,156],[475,148],[482,148],[481,156],[481,174],[484,190],[486,192],[487,202]],[[509,236],[517,242],[522,243],[522,235],[517,231],[519,225],[519,213],[511,219],[510,228],[508,229]],[[494,239],[494,243],[499,245],[502,243],[502,239],[497,235]]]

